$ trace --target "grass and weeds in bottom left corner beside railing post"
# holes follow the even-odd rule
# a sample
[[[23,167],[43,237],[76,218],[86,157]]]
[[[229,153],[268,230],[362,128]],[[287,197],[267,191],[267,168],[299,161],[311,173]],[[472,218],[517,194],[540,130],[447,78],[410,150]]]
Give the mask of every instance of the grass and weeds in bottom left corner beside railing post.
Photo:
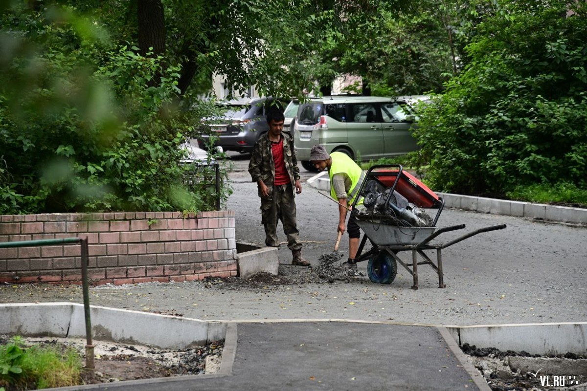
[[[26,347],[19,336],[0,345],[0,390],[79,385],[82,369],[82,359],[73,348]]]

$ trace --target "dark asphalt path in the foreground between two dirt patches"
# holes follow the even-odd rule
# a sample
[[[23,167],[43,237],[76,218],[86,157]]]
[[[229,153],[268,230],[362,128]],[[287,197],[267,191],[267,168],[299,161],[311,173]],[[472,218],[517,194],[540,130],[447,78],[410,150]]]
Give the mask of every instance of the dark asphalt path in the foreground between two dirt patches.
[[[446,328],[353,322],[233,323],[220,373],[73,389],[490,390]]]

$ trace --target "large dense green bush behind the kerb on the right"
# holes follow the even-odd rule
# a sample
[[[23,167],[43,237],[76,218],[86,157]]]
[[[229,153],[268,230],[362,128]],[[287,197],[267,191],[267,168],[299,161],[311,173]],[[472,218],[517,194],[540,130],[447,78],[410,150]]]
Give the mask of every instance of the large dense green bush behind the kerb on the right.
[[[504,195],[516,185],[587,186],[584,2],[501,2],[471,62],[423,109],[415,159],[436,191]]]

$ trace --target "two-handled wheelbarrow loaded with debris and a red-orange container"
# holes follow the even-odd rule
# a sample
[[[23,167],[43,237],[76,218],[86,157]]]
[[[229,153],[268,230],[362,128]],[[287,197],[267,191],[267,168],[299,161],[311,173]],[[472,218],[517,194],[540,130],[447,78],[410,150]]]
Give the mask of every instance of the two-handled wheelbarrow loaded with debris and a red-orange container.
[[[380,193],[373,189],[379,189]],[[376,201],[373,201],[374,192]],[[438,274],[438,287],[446,288],[442,250],[476,234],[506,227],[505,224],[483,227],[446,243],[431,244],[440,234],[464,229],[465,225],[437,229],[444,200],[409,172],[403,171],[401,165],[372,166],[358,193],[360,197],[356,197],[352,204],[351,218],[363,231],[363,237],[355,259],[357,262],[369,261],[367,275],[374,283],[392,283],[399,263],[413,277],[411,288],[418,289],[418,266],[430,265]],[[375,203],[378,212],[366,211],[366,205]],[[436,215],[430,217],[423,208],[436,210]],[[367,240],[372,249],[363,254]],[[436,250],[436,262],[424,250]],[[403,251],[411,251],[411,261],[400,259],[399,254]]]

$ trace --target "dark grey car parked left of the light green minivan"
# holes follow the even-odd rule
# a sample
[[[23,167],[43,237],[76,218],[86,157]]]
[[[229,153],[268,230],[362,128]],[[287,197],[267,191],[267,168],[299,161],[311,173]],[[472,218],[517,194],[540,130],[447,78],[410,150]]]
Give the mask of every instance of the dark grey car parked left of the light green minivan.
[[[251,152],[259,136],[269,130],[267,111],[277,107],[282,112],[287,101],[272,97],[252,98],[246,102],[229,101],[224,117],[220,121],[208,124],[212,132],[218,136],[214,147],[222,147],[224,151]],[[210,135],[203,134],[198,139],[200,148],[206,149]]]

